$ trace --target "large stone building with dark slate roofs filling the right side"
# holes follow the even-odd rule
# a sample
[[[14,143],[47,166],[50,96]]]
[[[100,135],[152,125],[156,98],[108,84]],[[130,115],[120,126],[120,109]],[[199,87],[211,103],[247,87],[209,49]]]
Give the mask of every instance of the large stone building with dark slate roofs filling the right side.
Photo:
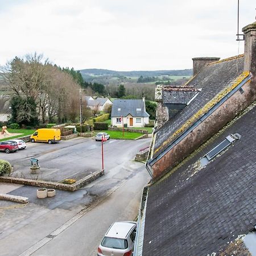
[[[182,88],[179,101],[165,98],[174,88],[156,89],[160,122],[146,163],[151,184],[143,191],[135,256],[250,255],[246,237],[256,228],[256,22],[243,33],[244,55],[193,59],[185,87],[197,93],[188,102],[187,92],[180,97]]]

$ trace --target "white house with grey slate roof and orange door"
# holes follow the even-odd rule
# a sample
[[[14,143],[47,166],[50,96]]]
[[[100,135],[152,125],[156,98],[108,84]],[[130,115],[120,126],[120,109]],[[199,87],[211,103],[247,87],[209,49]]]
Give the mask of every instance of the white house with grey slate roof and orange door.
[[[123,123],[122,123],[123,118]],[[113,126],[143,127],[148,123],[149,114],[146,112],[145,98],[142,100],[114,100],[111,113]]]

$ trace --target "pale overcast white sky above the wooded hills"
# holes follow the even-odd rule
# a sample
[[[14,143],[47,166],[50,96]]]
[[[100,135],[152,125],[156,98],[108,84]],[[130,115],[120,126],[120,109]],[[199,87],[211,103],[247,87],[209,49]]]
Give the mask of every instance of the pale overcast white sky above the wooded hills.
[[[192,68],[192,57],[243,53],[238,0],[0,0],[0,65],[43,54],[77,69]],[[242,27],[255,0],[240,0]]]

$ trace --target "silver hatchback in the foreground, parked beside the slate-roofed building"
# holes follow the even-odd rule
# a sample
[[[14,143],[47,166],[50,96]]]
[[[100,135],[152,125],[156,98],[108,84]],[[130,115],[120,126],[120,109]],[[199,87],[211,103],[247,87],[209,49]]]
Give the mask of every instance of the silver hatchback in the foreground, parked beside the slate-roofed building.
[[[98,246],[98,256],[131,256],[133,255],[137,222],[114,222]]]

